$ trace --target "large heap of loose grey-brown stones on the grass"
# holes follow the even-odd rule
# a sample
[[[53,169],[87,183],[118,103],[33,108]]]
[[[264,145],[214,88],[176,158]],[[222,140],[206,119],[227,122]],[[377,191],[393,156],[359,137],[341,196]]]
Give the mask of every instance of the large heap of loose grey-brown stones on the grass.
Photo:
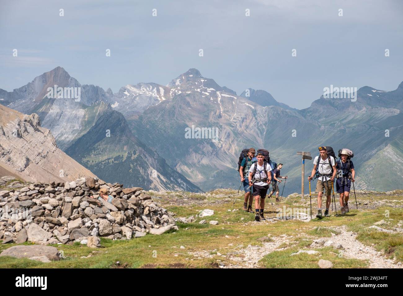
[[[98,200],[106,188],[112,203]],[[93,196],[93,198],[91,197]],[[123,188],[87,177],[70,183],[30,183],[0,189],[0,240],[38,244],[100,246],[100,238],[131,239],[177,230],[166,209],[142,188]]]

